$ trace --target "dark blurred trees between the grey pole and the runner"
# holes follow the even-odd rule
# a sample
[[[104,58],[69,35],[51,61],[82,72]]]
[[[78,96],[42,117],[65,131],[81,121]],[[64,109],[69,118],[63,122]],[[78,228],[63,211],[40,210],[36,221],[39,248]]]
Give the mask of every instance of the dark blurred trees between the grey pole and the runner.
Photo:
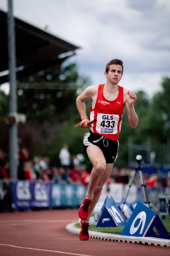
[[[54,159],[64,142],[74,145],[71,127],[79,120],[77,90],[87,83],[89,79],[79,75],[75,63],[40,70],[19,81],[18,112],[27,116],[27,123],[19,125],[19,136],[32,156],[48,154]]]

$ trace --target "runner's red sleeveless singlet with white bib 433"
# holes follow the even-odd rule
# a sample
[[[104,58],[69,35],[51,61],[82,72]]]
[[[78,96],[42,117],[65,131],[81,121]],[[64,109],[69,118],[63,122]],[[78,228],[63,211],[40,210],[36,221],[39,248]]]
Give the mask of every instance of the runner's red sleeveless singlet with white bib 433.
[[[99,84],[95,107],[90,108],[90,119],[97,119],[90,129],[110,140],[118,140],[124,110],[123,87],[119,86],[117,99],[110,101],[103,96],[103,87]]]

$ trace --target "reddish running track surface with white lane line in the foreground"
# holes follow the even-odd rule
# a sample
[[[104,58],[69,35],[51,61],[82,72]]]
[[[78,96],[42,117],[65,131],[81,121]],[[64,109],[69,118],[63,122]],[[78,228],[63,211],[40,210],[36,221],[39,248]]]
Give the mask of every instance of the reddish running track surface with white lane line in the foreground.
[[[77,209],[0,213],[0,256],[168,256],[170,248],[89,239],[68,233]]]

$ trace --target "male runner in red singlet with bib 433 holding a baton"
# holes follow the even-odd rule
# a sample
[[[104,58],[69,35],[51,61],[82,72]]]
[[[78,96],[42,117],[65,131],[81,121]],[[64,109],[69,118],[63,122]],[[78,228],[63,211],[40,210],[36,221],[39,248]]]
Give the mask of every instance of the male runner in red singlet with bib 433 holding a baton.
[[[122,116],[126,107],[129,125],[136,128],[138,116],[134,109],[136,95],[119,86],[122,79],[123,62],[113,59],[105,68],[106,83],[89,86],[77,97],[77,109],[81,116],[81,128],[88,128],[88,117],[85,111],[85,102],[92,99],[90,119],[97,119],[91,125],[90,132],[84,136],[84,152],[93,165],[88,191],[79,208],[81,231],[79,238],[88,240],[88,226],[91,213],[99,200],[102,187],[111,175],[119,148],[119,133],[122,125]]]

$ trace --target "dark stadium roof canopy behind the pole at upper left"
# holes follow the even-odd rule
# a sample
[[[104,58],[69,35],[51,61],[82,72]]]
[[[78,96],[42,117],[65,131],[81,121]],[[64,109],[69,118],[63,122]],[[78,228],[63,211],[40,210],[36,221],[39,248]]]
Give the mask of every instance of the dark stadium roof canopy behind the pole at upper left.
[[[14,18],[17,78],[62,64],[79,47]],[[59,55],[63,54],[63,57]],[[8,70],[7,14],[0,11],[0,72]],[[4,74],[2,76],[2,74]],[[8,81],[1,73],[0,84]]]

